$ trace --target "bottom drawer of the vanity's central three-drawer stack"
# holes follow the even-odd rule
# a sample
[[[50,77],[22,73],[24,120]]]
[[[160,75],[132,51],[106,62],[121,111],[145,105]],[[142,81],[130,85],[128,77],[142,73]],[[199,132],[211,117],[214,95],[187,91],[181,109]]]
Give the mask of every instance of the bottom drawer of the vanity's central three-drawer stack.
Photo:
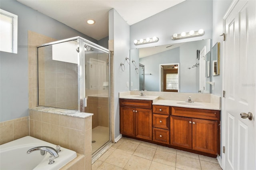
[[[170,144],[170,130],[153,128],[153,141]]]

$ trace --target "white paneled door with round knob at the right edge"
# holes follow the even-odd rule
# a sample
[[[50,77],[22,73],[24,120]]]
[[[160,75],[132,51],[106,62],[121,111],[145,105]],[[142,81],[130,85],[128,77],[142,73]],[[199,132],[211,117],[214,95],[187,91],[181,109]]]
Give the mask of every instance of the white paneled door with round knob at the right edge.
[[[224,170],[256,169],[256,1],[234,1],[224,16],[224,79],[222,120]]]

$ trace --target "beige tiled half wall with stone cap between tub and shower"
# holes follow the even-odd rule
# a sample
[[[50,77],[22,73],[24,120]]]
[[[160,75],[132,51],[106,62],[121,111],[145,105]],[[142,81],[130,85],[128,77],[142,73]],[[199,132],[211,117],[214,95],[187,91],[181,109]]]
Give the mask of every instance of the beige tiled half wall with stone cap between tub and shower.
[[[91,169],[93,114],[68,109],[35,107],[29,109],[29,115],[30,136],[82,154],[82,157],[74,160],[79,165],[72,166]]]

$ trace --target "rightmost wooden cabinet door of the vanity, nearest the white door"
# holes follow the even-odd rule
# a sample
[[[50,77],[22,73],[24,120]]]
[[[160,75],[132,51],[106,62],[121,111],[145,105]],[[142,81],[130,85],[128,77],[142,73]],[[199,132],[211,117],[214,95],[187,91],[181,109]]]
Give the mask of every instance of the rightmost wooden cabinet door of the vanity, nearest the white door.
[[[192,119],[193,150],[218,154],[218,121]]]

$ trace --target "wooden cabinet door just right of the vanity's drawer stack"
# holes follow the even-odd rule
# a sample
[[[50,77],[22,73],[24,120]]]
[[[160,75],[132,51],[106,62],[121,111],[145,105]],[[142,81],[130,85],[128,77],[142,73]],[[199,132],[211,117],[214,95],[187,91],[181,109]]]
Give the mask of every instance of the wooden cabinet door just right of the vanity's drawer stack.
[[[192,148],[192,119],[171,116],[170,144],[183,148]]]

